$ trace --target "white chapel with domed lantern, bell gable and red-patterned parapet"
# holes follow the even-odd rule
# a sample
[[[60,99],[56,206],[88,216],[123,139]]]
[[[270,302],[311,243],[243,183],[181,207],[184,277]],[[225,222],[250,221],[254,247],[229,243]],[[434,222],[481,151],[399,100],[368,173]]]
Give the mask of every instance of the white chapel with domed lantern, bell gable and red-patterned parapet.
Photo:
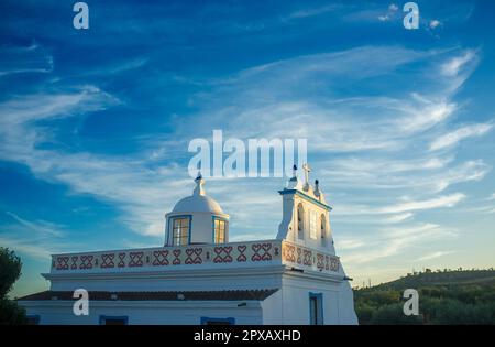
[[[275,239],[229,242],[229,220],[204,189],[165,215],[157,248],[52,256],[48,291],[19,299],[37,324],[358,324],[350,279],[333,247],[331,207],[296,167]],[[74,291],[89,294],[75,315]]]

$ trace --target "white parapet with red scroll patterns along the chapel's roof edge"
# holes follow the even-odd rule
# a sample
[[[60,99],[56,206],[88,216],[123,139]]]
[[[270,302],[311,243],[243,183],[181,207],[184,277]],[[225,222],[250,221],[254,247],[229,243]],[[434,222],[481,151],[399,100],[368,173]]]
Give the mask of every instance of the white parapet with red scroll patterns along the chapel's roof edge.
[[[51,274],[173,271],[287,265],[341,273],[338,257],[283,240],[189,245],[52,256]]]

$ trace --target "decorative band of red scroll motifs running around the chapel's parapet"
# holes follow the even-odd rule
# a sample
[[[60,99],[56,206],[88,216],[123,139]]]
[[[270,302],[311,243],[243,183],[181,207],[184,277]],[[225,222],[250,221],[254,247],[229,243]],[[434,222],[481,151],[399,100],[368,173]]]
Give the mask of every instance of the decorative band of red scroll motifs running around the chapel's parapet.
[[[165,247],[92,254],[54,256],[52,267],[57,270],[88,270],[116,268],[146,268],[168,265],[200,265],[207,263],[249,263],[282,261],[296,267],[338,272],[338,257],[321,250],[288,241],[254,241],[188,247]]]

